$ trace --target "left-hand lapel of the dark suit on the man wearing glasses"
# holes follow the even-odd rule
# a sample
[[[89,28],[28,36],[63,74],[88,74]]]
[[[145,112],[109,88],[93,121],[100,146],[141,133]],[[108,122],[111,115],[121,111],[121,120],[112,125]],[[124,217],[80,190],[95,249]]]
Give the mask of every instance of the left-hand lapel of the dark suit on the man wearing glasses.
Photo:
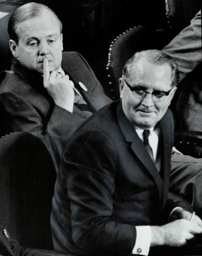
[[[143,142],[138,137],[137,132],[135,131],[133,125],[131,124],[130,121],[128,121],[127,117],[125,117],[121,103],[118,105],[117,108],[117,118],[120,129],[124,134],[125,140],[128,142],[128,145],[130,145],[130,148],[132,149],[133,153],[135,153],[135,155],[138,157],[138,159],[141,161],[141,163],[145,166],[145,168],[153,177],[154,182],[156,183],[156,186],[158,187],[159,190],[159,197],[161,198],[162,191],[164,188],[161,176],[159,175],[155,164],[148,155],[148,152],[146,151]]]

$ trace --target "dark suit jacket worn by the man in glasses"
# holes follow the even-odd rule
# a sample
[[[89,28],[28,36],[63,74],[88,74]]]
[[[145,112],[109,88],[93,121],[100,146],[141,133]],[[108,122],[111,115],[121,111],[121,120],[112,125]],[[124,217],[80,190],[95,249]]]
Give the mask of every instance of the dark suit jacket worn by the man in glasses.
[[[78,128],[57,175],[51,216],[56,250],[129,255],[135,225],[164,223],[174,207],[167,200],[174,139],[170,111],[159,127],[161,174],[121,104],[104,107]]]

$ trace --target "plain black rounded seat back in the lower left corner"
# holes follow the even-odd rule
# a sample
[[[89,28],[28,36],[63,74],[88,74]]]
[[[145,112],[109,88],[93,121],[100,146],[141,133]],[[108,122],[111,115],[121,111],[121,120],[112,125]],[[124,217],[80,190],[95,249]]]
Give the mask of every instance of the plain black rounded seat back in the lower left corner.
[[[24,247],[52,249],[49,216],[56,171],[40,139],[15,132],[0,139],[0,218]]]

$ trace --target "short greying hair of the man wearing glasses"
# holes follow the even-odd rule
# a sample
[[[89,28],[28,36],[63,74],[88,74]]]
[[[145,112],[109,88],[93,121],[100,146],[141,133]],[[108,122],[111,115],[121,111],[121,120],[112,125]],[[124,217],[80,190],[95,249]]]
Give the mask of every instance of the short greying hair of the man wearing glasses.
[[[140,51],[135,53],[132,56],[132,58],[128,59],[128,61],[125,62],[122,75],[128,77],[132,67],[135,64],[138,64],[138,61],[143,59],[156,65],[169,64],[170,69],[172,70],[171,86],[177,85],[177,83],[179,82],[179,70],[176,62],[174,61],[174,59],[170,58],[170,56],[168,56],[166,53],[163,53],[158,49],[149,49],[146,51]]]

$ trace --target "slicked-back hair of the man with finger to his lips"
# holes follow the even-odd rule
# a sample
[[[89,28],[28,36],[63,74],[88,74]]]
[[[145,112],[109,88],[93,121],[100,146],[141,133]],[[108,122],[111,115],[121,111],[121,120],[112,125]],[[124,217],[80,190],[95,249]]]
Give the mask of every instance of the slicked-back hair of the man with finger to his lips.
[[[11,17],[9,19],[8,28],[7,31],[9,33],[9,36],[12,40],[14,40],[16,43],[19,41],[19,35],[18,35],[18,25],[19,23],[32,19],[34,17],[39,17],[41,14],[44,14],[44,11],[48,11],[51,14],[56,17],[59,28],[62,33],[62,23],[61,20],[57,17],[57,15],[48,7],[44,6],[44,4],[38,4],[36,2],[29,2],[28,4],[23,4],[22,6],[15,9],[14,12],[12,12]]]

